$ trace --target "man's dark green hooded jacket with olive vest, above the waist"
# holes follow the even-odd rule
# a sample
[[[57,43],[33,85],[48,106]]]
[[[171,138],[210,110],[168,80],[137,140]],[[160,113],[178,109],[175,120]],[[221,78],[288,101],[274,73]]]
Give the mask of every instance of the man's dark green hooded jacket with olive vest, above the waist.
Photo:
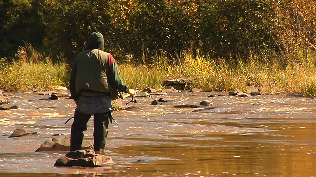
[[[88,48],[78,54],[72,67],[69,84],[72,98],[77,100],[82,91],[109,93],[110,86],[112,90],[127,93],[128,87],[120,78],[115,59],[103,51],[101,33],[90,35]]]

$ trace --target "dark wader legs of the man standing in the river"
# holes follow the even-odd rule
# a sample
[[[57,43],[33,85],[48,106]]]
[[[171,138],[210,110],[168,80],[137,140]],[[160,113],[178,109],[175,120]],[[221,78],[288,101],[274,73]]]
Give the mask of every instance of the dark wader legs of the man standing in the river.
[[[106,138],[108,136],[109,114],[96,113],[93,115],[93,138],[94,151],[103,150],[106,145]],[[83,132],[87,130],[87,123],[91,115],[75,111],[74,122],[71,125],[70,133],[70,151],[81,150],[83,142]]]

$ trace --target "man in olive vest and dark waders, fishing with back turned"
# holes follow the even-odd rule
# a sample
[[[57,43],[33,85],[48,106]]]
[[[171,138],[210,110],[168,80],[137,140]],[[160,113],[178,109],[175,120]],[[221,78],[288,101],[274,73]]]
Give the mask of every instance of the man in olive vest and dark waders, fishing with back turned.
[[[113,91],[135,94],[134,89],[120,78],[115,59],[104,50],[103,35],[91,33],[88,50],[80,52],[75,59],[70,76],[70,92],[75,101],[76,110],[71,126],[70,151],[81,150],[83,131],[93,115],[94,151],[104,149],[111,120],[111,95]],[[102,153],[102,152],[101,152]]]

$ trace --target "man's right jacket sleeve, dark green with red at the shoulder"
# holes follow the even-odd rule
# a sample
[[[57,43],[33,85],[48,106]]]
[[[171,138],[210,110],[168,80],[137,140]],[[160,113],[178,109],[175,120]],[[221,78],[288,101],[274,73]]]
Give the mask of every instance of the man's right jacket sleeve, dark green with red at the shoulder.
[[[109,70],[107,72],[109,84],[112,87],[115,87],[116,89],[118,89],[119,92],[128,93],[128,86],[124,83],[124,81],[121,79],[119,75],[116,61],[114,60],[112,55],[109,57],[110,57],[110,64],[109,64]]]

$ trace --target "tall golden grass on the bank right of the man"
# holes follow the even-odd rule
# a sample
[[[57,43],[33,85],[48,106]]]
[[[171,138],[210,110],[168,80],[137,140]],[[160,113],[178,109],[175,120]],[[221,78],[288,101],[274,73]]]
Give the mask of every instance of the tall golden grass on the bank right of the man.
[[[243,62],[240,59],[228,63],[224,59],[214,60],[205,56],[193,58],[190,54],[185,54],[177,66],[123,65],[119,70],[125,82],[131,88],[138,89],[164,78],[186,77],[190,80],[190,88],[201,88],[204,91],[248,92],[250,84],[269,94],[300,92],[307,96],[316,96],[315,59],[294,63],[286,68],[281,66],[277,59],[262,62],[263,60],[265,59],[249,59]],[[156,87],[163,86],[159,84]]]

